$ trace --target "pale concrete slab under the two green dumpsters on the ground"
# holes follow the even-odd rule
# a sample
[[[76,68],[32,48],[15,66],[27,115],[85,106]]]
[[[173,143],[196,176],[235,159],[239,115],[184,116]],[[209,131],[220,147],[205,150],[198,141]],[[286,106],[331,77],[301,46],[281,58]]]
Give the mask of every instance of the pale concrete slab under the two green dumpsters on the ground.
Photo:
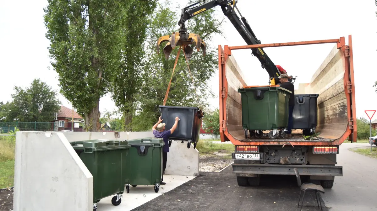
[[[153,185],[130,187],[130,193],[124,192],[120,205],[112,205],[113,196],[106,197],[98,202],[97,211],[130,211],[194,178],[195,176],[164,175],[166,185],[161,185],[158,193],[155,193]]]

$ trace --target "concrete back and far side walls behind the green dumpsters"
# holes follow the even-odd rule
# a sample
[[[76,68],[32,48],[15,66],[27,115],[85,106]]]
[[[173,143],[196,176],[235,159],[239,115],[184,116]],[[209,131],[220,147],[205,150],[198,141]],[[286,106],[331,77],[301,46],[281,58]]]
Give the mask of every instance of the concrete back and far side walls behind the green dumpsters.
[[[62,132],[68,141],[83,141],[93,139],[131,140],[136,138],[154,137],[148,132]],[[193,146],[187,149],[187,142],[173,141],[169,149],[166,164],[166,175],[199,175],[199,152]]]

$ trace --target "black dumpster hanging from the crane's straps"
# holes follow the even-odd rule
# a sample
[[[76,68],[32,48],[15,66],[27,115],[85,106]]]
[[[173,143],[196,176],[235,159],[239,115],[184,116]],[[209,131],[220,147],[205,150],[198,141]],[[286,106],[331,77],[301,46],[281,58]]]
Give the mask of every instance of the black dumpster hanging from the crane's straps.
[[[202,124],[202,117],[204,112],[198,107],[180,107],[180,106],[159,106],[162,123],[165,123],[165,128],[169,130],[175,123],[175,117],[179,117],[178,127],[170,135],[170,140],[188,141],[187,148],[190,148],[191,143],[199,141],[200,127]],[[171,142],[169,141],[169,146]]]

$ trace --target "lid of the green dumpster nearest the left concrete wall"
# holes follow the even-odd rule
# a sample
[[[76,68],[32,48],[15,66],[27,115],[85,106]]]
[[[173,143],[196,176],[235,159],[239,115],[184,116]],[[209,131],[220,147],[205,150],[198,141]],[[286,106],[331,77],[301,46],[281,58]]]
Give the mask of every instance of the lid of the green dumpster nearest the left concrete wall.
[[[86,141],[73,141],[71,146],[76,149],[92,149],[91,151],[104,151],[115,149],[130,148],[128,141],[116,141],[116,140],[86,140]],[[87,151],[87,150],[85,150]]]

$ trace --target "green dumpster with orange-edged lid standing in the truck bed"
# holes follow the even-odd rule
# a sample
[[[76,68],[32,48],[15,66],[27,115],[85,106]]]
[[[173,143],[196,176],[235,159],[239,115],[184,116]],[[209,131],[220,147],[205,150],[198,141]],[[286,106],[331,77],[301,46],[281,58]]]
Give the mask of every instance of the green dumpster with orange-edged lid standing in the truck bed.
[[[244,129],[269,131],[287,128],[291,91],[272,85],[238,88],[238,92],[241,93]]]

